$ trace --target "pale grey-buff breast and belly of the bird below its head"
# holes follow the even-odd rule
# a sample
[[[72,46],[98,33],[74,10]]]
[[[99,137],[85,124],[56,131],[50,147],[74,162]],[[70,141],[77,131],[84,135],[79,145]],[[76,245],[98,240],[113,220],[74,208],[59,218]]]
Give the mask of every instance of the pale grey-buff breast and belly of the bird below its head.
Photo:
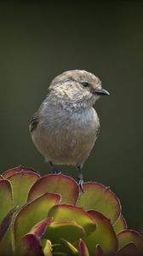
[[[44,115],[45,118],[45,115]],[[81,113],[53,111],[38,124],[33,142],[48,160],[55,164],[76,166],[87,159],[99,130],[94,108]]]

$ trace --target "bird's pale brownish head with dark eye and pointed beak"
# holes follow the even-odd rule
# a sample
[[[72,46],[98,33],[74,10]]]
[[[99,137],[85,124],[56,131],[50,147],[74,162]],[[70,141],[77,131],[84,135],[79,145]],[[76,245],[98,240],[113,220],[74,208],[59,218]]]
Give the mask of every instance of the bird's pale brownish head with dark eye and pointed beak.
[[[100,96],[108,96],[102,89],[100,79],[85,70],[70,70],[57,76],[49,86],[49,91],[61,102],[67,102],[83,108],[94,105]]]

